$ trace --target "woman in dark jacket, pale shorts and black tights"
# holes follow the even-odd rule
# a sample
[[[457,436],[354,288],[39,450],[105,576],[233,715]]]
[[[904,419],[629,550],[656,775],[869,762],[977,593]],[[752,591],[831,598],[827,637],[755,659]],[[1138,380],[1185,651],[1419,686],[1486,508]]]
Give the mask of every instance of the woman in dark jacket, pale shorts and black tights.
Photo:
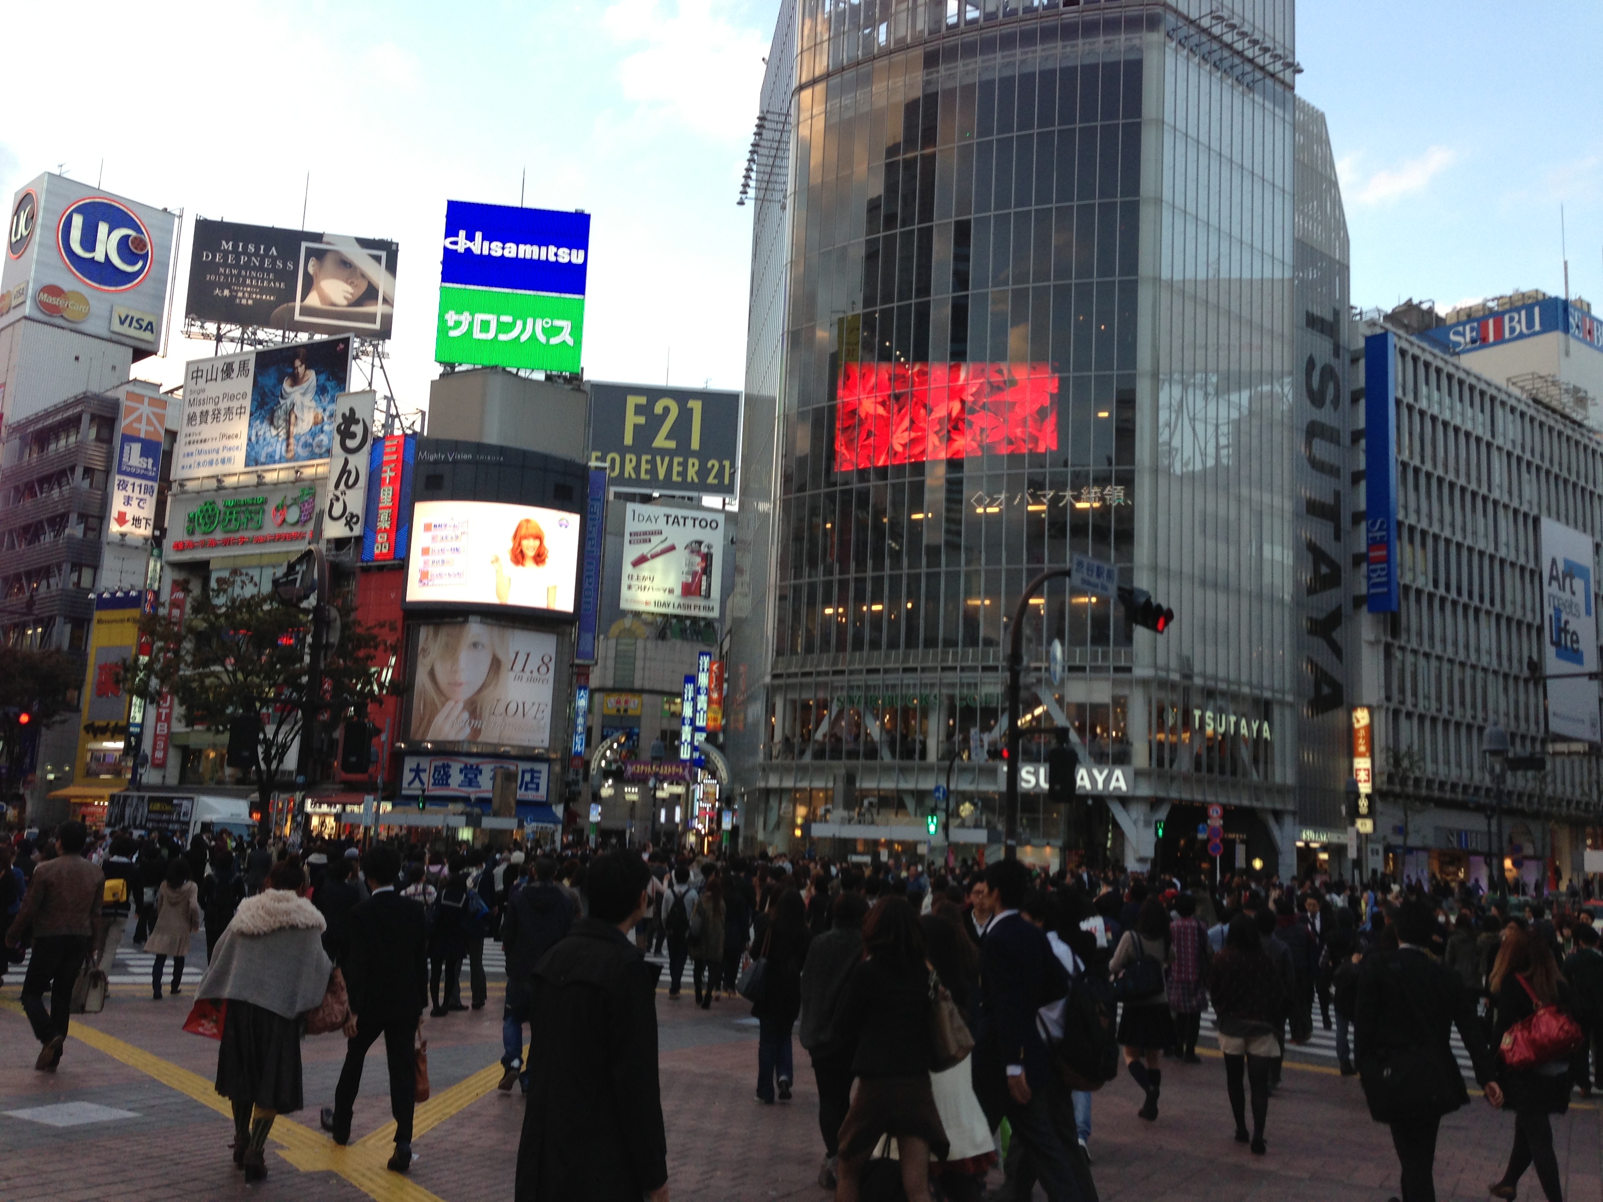
[[[1284,982],[1263,950],[1257,923],[1238,914],[1230,922],[1225,950],[1209,973],[1213,995],[1218,1050],[1225,1056],[1225,1085],[1236,1115],[1236,1143],[1252,1144],[1263,1156],[1263,1123],[1270,1112],[1270,1061],[1281,1055],[1279,1016],[1286,1008]],[[1247,1098],[1242,1074],[1252,1088],[1252,1135],[1247,1135]]]

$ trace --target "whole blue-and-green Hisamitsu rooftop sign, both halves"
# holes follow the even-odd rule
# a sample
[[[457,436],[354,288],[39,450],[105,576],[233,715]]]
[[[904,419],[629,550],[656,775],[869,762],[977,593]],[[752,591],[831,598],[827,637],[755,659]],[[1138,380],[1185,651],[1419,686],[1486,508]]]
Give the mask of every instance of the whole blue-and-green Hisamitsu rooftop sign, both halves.
[[[590,215],[446,202],[434,359],[577,372]]]

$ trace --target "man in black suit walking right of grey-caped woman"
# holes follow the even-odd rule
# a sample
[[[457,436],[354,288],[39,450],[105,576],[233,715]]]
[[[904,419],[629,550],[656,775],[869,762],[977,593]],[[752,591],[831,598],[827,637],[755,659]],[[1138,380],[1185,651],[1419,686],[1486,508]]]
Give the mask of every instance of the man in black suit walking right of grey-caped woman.
[[[428,1005],[428,930],[423,906],[396,893],[401,857],[375,846],[362,857],[372,894],[349,914],[349,946],[341,963],[351,1018],[345,1024],[345,1067],[333,1090],[333,1106],[322,1107],[322,1128],[337,1144],[351,1138],[351,1114],[362,1085],[362,1061],[380,1035],[390,1063],[390,1111],[396,1120],[396,1151],[390,1168],[412,1167],[412,1109],[417,1069],[412,1039]]]

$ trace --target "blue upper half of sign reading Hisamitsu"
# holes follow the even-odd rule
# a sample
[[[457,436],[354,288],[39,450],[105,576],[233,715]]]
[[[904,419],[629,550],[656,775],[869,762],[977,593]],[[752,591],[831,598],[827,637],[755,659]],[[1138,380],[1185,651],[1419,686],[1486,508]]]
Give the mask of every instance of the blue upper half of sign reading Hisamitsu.
[[[583,296],[588,260],[588,213],[446,202],[441,284]]]

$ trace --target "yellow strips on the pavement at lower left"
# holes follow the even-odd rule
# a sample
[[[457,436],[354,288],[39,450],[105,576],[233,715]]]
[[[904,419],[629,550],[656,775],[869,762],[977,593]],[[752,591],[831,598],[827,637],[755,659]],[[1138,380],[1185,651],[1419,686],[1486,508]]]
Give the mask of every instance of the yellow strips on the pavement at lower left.
[[[22,1006],[11,1000],[0,1000],[0,1006],[16,1014],[22,1013]],[[170,1090],[192,1098],[232,1122],[232,1106],[226,1098],[218,1096],[213,1083],[200,1074],[183,1069],[160,1056],[152,1056],[149,1051],[136,1048],[115,1035],[107,1035],[104,1031],[91,1027],[82,1019],[72,1024],[71,1034],[72,1039],[87,1043],[115,1061],[122,1061],[131,1069],[138,1069]],[[418,1106],[414,1139],[494,1090],[500,1080],[500,1072],[502,1069],[497,1063]],[[390,1160],[388,1144],[394,1139],[393,1120],[357,1143],[340,1148],[321,1131],[314,1131],[281,1114],[277,1122],[273,1123],[269,1138],[279,1144],[279,1156],[295,1165],[295,1168],[305,1173],[335,1173],[375,1199],[375,1202],[442,1202],[442,1199],[423,1189],[412,1178],[391,1173],[385,1168],[385,1164]]]

